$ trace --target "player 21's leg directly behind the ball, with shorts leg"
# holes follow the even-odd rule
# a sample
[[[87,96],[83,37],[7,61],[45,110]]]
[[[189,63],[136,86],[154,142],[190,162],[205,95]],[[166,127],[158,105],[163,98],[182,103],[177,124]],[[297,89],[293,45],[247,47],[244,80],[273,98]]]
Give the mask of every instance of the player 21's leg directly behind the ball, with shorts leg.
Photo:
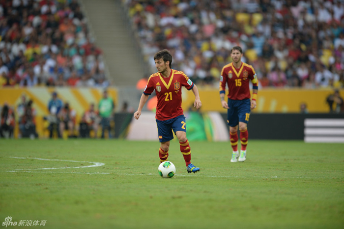
[[[163,161],[167,161],[169,157],[169,149],[170,149],[170,141],[173,139],[173,133],[171,128],[171,121],[160,121],[156,120],[156,124],[158,127],[158,136],[160,142],[159,148],[159,158],[160,163]]]

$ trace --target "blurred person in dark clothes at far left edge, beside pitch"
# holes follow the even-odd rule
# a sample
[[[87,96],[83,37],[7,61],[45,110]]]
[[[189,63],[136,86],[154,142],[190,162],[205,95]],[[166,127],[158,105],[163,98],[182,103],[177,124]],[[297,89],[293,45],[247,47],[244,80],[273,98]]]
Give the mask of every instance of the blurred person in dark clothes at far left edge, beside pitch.
[[[0,114],[0,137],[13,138],[14,125],[15,117],[13,109],[7,104],[4,104]]]

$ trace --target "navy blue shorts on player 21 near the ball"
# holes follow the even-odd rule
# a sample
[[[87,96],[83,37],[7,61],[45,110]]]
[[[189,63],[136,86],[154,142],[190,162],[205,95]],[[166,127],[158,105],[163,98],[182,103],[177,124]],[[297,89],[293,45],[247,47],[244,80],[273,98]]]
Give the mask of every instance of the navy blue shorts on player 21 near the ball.
[[[158,126],[158,135],[160,143],[168,142],[173,139],[172,130],[174,134],[177,131],[186,132],[185,116],[183,114],[165,121],[160,121],[158,119],[155,120]]]

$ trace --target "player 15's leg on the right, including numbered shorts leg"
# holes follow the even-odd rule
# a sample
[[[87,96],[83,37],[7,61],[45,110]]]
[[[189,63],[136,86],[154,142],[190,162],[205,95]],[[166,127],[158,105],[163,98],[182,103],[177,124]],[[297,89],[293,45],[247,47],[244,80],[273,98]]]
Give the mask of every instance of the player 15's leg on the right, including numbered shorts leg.
[[[249,122],[251,113],[251,102],[250,99],[243,100],[242,104],[238,109],[239,113],[239,130],[240,130],[240,157],[239,162],[244,162],[246,160],[246,147],[249,139],[249,132],[247,130],[247,123]]]

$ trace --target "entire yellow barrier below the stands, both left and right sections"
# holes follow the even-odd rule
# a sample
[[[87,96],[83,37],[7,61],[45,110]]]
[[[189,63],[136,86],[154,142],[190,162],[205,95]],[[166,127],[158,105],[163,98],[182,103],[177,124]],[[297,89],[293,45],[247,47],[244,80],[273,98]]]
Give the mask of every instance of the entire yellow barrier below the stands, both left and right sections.
[[[0,106],[6,102],[16,108],[21,102],[21,95],[33,100],[33,107],[36,115],[36,129],[40,137],[47,137],[43,117],[48,114],[48,102],[53,91],[57,91],[58,97],[77,112],[77,121],[88,109],[90,103],[98,104],[102,98],[103,90],[100,88],[70,88],[70,87],[27,87],[27,88],[0,88]],[[217,111],[224,113],[221,107],[219,91],[210,88],[199,88],[202,108],[201,111]],[[109,95],[118,104],[117,90],[108,89]],[[326,104],[326,97],[333,93],[332,89],[261,89],[258,91],[256,113],[299,113],[300,104],[306,103],[310,113],[328,113],[329,108]],[[226,93],[227,94],[227,93]],[[344,89],[340,90],[342,97]],[[183,89],[184,111],[193,107],[195,96],[192,91]],[[18,118],[18,117],[17,117]],[[15,136],[18,133],[16,125]]]

